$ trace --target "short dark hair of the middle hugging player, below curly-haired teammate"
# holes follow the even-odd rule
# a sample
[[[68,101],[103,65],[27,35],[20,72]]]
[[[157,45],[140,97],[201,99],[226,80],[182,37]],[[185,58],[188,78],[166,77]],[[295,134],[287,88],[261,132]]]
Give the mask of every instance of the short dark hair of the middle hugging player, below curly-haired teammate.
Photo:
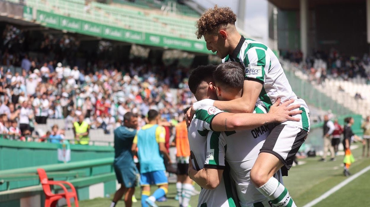
[[[242,89],[244,84],[244,66],[242,64],[229,61],[217,66],[213,73],[215,84],[221,84],[225,87]]]

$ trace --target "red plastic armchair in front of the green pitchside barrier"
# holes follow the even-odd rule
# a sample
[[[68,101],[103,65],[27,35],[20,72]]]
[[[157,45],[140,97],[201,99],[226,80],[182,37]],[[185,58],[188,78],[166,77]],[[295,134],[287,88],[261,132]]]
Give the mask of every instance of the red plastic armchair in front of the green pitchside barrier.
[[[45,207],[55,207],[58,200],[61,198],[65,198],[65,200],[67,201],[68,207],[71,207],[70,199],[74,198],[74,204],[76,207],[78,207],[76,189],[71,183],[66,182],[66,181],[48,180],[46,172],[43,168],[38,168],[37,173],[38,173],[38,177],[40,177],[40,182],[43,186],[43,190],[46,196]],[[69,186],[72,189],[72,192],[68,192],[67,188],[65,188],[63,184]],[[52,193],[50,190],[50,185],[60,186],[63,189],[64,193],[56,193],[56,194]]]

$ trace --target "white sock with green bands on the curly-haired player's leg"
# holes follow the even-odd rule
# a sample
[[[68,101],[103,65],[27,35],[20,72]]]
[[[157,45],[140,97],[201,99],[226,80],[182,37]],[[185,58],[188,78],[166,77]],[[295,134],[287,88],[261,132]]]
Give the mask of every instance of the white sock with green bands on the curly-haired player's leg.
[[[288,190],[274,177],[257,190],[269,198],[274,206],[297,207]]]

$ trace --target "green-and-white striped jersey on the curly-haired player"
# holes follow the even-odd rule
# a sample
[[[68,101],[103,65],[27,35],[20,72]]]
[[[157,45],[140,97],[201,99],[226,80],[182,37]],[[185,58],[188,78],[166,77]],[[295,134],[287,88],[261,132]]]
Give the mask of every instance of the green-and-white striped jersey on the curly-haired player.
[[[302,110],[303,113],[294,117],[301,120],[286,121],[282,124],[310,131],[309,108],[306,102],[293,92],[279,60],[271,49],[265,44],[245,39],[242,36],[232,55],[222,59],[223,63],[227,61],[235,61],[245,66],[245,80],[258,81],[263,84],[257,103],[265,106],[268,110],[278,98],[282,102],[295,99],[293,104],[300,104],[299,110]]]

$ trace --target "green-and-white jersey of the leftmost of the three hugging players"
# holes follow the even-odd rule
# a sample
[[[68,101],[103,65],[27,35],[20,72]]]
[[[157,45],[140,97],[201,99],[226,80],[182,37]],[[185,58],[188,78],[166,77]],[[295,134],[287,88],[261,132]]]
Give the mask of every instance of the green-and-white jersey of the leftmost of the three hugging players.
[[[207,153],[207,134],[211,129],[211,121],[216,114],[224,111],[216,107],[203,107],[198,110],[188,127],[188,139],[192,164],[195,170],[203,168]],[[234,181],[231,181],[228,170],[224,170],[222,180],[214,190],[202,189],[199,194],[198,207],[237,207],[238,197],[235,192]]]

